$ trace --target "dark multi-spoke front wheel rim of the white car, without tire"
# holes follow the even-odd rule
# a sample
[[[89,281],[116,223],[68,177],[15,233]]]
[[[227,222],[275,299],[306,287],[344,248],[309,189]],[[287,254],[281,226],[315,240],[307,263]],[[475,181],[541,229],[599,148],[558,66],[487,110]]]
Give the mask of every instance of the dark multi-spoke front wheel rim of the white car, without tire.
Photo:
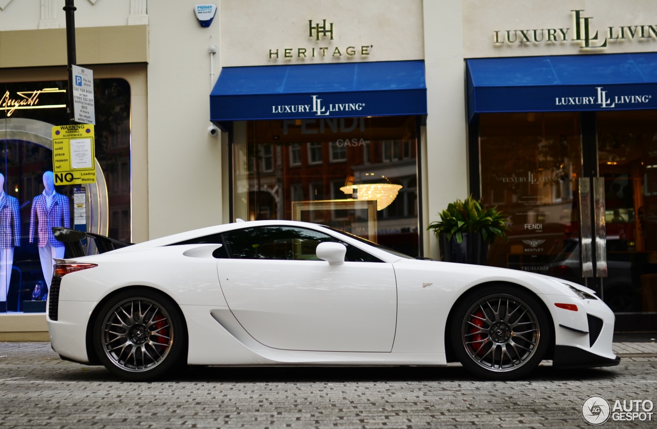
[[[468,356],[489,371],[513,371],[538,348],[541,327],[529,305],[509,294],[489,295],[472,305],[461,338]]]

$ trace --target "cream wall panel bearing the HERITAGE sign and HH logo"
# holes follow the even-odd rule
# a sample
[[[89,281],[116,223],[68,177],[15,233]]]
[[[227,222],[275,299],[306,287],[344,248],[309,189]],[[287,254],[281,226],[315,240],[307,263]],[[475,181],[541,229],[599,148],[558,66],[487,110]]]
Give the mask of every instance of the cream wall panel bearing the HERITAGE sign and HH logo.
[[[420,0],[224,0],[221,16],[224,67],[421,60],[423,56]],[[308,20],[314,25],[324,19],[327,27],[334,24],[333,40],[309,37]],[[363,45],[371,46],[369,55],[363,55]],[[321,47],[328,48],[325,55]],[[346,54],[348,47],[355,48],[350,50],[355,55]],[[286,48],[292,58],[284,58]],[[306,56],[300,48],[306,49]],[[270,49],[278,49],[279,58],[269,58]]]

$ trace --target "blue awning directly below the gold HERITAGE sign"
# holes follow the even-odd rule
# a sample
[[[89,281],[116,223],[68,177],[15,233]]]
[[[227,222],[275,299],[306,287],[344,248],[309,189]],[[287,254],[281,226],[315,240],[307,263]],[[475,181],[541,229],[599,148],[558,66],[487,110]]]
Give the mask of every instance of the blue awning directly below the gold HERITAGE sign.
[[[424,61],[225,67],[210,120],[425,115]]]

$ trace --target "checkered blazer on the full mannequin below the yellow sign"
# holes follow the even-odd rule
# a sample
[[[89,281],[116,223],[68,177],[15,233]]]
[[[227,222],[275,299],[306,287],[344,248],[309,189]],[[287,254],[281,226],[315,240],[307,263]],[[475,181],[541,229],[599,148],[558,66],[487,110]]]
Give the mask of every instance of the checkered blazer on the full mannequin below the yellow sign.
[[[36,217],[35,217],[36,215]],[[55,194],[53,205],[48,210],[45,202],[45,195],[39,194],[32,200],[32,214],[30,214],[30,242],[34,241],[34,221],[37,220],[39,227],[39,247],[45,247],[50,240],[53,247],[64,247],[53,235],[53,227],[71,227],[71,212],[68,204],[68,197],[62,194]]]

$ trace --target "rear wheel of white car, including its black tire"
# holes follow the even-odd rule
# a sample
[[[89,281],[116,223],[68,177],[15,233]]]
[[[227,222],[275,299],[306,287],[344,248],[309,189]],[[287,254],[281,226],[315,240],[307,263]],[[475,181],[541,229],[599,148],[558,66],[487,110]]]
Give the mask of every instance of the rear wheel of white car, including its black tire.
[[[187,325],[179,307],[148,288],[124,290],[102,304],[93,344],[102,365],[129,381],[172,376],[187,363]]]

